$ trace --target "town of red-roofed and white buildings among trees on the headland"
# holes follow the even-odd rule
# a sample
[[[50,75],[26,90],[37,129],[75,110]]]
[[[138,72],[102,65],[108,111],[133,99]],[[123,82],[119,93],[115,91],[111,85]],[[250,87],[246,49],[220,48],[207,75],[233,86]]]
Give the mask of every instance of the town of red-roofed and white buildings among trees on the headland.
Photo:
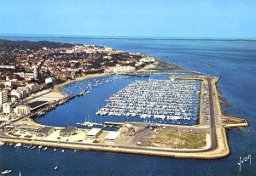
[[[54,85],[95,73],[135,71],[154,61],[102,46],[0,40],[0,121],[72,98],[47,91]]]

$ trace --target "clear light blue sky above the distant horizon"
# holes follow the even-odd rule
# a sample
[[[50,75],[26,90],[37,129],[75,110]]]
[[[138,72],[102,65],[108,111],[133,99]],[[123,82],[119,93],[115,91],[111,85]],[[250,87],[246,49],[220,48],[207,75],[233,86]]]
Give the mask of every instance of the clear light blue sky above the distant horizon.
[[[0,35],[256,38],[255,0],[0,0]]]

